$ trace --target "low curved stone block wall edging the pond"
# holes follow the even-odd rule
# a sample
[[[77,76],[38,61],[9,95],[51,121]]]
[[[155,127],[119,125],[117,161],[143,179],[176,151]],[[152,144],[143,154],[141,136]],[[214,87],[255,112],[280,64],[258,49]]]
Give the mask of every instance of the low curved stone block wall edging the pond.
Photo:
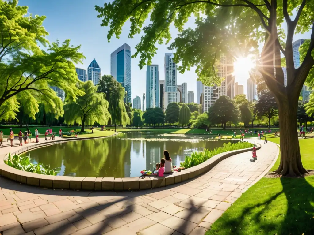
[[[52,144],[52,143],[51,143]],[[46,144],[45,146],[51,145]],[[43,147],[42,145],[33,145],[34,148]],[[28,151],[33,146],[24,148]],[[257,144],[257,150],[261,149],[261,145]],[[0,175],[8,179],[38,186],[53,189],[72,189],[72,190],[96,190],[96,191],[126,191],[126,190],[144,190],[151,188],[159,188],[167,185],[173,185],[185,180],[192,179],[198,175],[202,175],[211,170],[222,160],[244,152],[252,151],[252,148],[233,150],[221,154],[217,154],[207,161],[182,170],[181,172],[174,172],[165,177],[159,176],[145,176],[145,177],[127,177],[127,178],[113,178],[113,177],[72,177],[72,176],[52,176],[41,175],[31,172],[15,169],[8,166],[4,161],[0,162]],[[19,150],[17,154],[23,153]],[[7,154],[3,157],[6,158]]]

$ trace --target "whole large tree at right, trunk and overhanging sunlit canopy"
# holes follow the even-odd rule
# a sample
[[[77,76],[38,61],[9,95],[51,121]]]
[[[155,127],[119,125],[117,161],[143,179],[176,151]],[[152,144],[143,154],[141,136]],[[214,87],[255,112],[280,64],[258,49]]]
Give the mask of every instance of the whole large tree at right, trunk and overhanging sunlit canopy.
[[[156,42],[169,43],[170,26],[180,34],[169,50],[176,50],[174,61],[181,61],[178,70],[184,73],[196,67],[200,81],[205,85],[219,84],[214,65],[220,55],[246,56],[263,42],[262,73],[279,107],[281,163],[276,173],[301,175],[304,169],[298,137],[295,132],[299,94],[307,75],[314,65],[314,31],[306,48],[304,60],[295,69],[293,62],[293,36],[311,30],[314,18],[314,2],[311,0],[115,0],[103,7],[95,6],[102,18],[101,26],[108,26],[108,40],[122,32],[122,26],[130,20],[130,34],[143,33],[136,45],[133,57],[140,55],[139,67],[151,64],[157,53]],[[295,18],[291,19],[292,13]],[[189,17],[194,15],[195,29],[184,29]],[[150,17],[150,23],[144,26]],[[146,21],[147,22],[147,21]],[[282,25],[287,24],[287,35]],[[284,42],[285,40],[285,42]],[[287,67],[287,86],[280,56],[284,55]]]

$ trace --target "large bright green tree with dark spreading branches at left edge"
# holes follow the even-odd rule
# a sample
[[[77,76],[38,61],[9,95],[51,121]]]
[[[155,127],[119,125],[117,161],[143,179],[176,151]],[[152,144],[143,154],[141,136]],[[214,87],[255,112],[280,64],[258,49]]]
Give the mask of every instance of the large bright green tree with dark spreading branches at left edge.
[[[38,104],[45,102],[58,118],[63,115],[63,102],[50,86],[60,87],[72,99],[82,95],[73,63],[82,63],[84,56],[80,46],[71,46],[70,40],[51,43],[42,50],[39,44],[46,47],[48,43],[42,25],[46,17],[26,16],[28,7],[17,4],[17,0],[0,1],[0,111],[10,113],[2,118],[14,117],[25,100],[29,117],[35,118]]]

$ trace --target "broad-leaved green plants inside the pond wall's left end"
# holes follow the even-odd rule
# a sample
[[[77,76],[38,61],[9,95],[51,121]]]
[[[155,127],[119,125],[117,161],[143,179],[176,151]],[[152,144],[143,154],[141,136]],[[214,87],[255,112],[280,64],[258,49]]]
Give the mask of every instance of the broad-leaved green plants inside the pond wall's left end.
[[[57,175],[60,170],[56,170],[58,168],[50,170],[50,165],[42,165],[41,163],[33,164],[30,162],[30,156],[18,156],[14,155],[11,158],[11,154],[9,153],[8,159],[4,160],[5,164],[11,166],[18,170],[23,170],[27,172],[33,172],[42,175]]]

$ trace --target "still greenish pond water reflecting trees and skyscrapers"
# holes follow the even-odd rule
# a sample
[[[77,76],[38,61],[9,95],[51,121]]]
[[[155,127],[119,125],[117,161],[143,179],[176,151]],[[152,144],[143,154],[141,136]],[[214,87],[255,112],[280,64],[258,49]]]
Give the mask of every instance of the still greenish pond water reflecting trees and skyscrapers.
[[[61,167],[58,175],[133,177],[153,170],[167,149],[172,165],[180,165],[193,151],[214,149],[231,140],[213,141],[204,135],[122,133],[109,138],[69,141],[25,153],[33,163]]]

